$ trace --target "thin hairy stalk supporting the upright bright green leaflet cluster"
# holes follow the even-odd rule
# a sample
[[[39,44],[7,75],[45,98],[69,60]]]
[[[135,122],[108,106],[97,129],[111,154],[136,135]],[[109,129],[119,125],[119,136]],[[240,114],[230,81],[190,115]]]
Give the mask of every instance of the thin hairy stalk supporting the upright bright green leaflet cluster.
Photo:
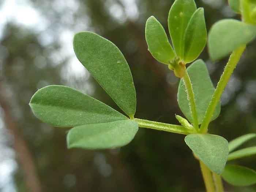
[[[187,97],[189,100],[191,116],[193,118],[193,127],[196,129],[196,131],[199,131],[197,112],[196,112],[196,102],[195,102],[194,92],[193,92],[193,88],[192,88],[192,83],[188,76],[187,70],[185,71],[185,74],[182,79],[183,79],[183,82],[184,82],[186,90],[187,90]]]

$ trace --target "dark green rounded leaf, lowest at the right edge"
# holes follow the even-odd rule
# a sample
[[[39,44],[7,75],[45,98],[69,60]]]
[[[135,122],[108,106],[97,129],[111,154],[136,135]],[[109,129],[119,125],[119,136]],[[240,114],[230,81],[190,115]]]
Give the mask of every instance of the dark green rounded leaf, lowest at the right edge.
[[[226,165],[221,176],[234,186],[248,186],[256,183],[256,172],[248,167]]]

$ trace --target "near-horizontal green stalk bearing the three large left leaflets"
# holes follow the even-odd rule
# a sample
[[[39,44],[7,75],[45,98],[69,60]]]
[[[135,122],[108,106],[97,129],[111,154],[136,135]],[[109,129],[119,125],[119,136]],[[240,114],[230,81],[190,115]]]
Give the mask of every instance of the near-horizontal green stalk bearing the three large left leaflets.
[[[160,123],[156,121],[148,121],[148,120],[139,119],[139,118],[135,118],[134,120],[139,124],[139,127],[142,127],[142,128],[156,129],[159,131],[167,131],[167,132],[179,133],[183,135],[196,133],[194,129],[188,129],[181,125]]]

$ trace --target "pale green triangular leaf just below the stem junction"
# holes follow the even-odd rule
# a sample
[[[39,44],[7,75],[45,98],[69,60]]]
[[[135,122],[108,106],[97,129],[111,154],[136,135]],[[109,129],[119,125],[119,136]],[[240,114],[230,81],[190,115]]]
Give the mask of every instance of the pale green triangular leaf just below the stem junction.
[[[210,170],[222,173],[229,154],[225,138],[210,134],[190,134],[185,137],[185,142]]]

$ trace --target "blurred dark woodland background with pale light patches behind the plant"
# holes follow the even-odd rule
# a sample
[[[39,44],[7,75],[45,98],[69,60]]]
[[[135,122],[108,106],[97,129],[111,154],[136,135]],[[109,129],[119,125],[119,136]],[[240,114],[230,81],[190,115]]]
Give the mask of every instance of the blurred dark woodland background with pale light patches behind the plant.
[[[114,42],[132,71],[135,117],[178,124],[178,79],[147,51],[146,19],[154,15],[167,34],[172,0],[0,0],[0,191],[1,192],[200,192],[199,163],[184,136],[140,128],[114,150],[67,150],[67,129],[39,121],[31,96],[49,84],[89,94],[120,111],[76,59],[72,38],[94,31]],[[225,0],[196,0],[207,30],[222,18],[237,18]],[[248,45],[210,132],[231,140],[256,132],[256,42]],[[227,58],[212,63],[200,55],[216,86]],[[252,146],[256,140],[244,146]],[[256,157],[237,161],[256,169]],[[255,192],[256,186],[227,191]]]

